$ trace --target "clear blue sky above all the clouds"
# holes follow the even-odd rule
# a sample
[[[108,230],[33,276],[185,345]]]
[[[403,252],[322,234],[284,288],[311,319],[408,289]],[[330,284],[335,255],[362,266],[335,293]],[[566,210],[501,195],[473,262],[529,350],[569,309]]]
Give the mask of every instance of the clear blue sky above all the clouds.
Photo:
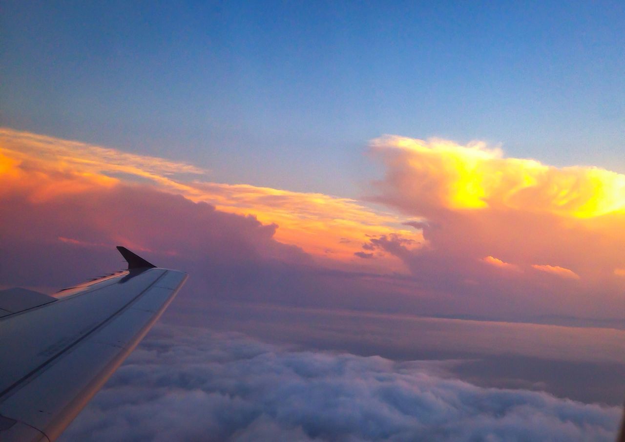
[[[384,133],[625,172],[625,6],[4,2],[0,124],[342,196]]]

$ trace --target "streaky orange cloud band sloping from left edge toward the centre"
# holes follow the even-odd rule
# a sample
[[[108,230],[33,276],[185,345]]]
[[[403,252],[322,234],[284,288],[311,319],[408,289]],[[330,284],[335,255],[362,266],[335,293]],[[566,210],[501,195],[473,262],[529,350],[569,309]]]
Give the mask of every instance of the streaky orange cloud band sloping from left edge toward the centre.
[[[319,259],[403,271],[401,261],[392,255],[364,263],[354,253],[372,236],[397,234],[424,243],[419,230],[404,225],[404,217],[368,208],[354,199],[188,180],[189,176],[203,178],[205,174],[204,169],[190,164],[0,129],[0,192],[14,192],[11,186],[19,187],[31,201],[148,180],[159,189],[210,203],[221,211],[249,214],[262,223],[277,224],[277,241],[299,246]]]

